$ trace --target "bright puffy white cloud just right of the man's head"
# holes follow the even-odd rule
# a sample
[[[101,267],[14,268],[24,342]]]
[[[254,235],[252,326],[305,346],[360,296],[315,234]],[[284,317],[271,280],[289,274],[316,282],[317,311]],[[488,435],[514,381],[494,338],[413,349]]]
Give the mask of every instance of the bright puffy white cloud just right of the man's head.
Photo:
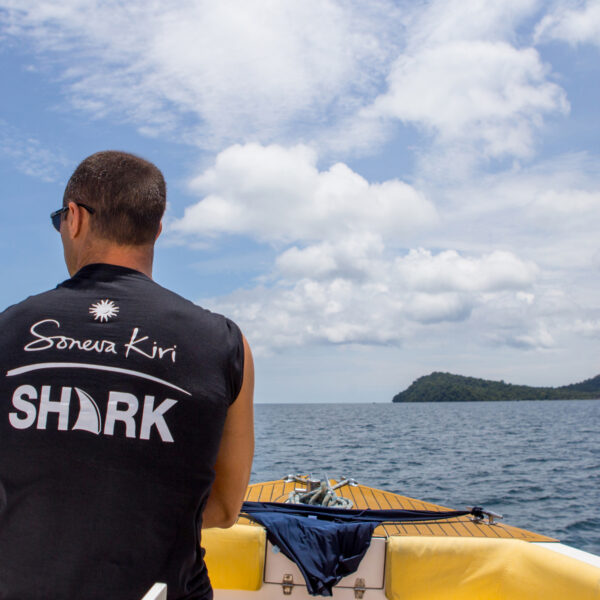
[[[433,205],[412,186],[370,184],[343,163],[319,171],[306,146],[232,146],[191,187],[204,197],[172,225],[180,234],[293,242],[375,233],[401,241],[436,222]]]

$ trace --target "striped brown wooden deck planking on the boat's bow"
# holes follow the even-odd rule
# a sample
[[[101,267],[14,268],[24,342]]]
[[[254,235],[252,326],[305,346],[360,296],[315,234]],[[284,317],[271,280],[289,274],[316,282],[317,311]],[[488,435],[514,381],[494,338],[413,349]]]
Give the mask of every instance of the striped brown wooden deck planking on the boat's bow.
[[[331,484],[335,485],[331,480]],[[254,483],[248,486],[246,500],[255,502],[284,502],[294,488],[301,487],[295,482],[286,483],[283,480]],[[364,485],[356,487],[345,486],[336,490],[340,496],[350,498],[354,508],[375,509],[409,509],[409,510],[452,510],[438,504],[415,500],[408,496],[401,496],[391,492],[384,492]],[[245,517],[238,519],[239,523],[250,523]],[[438,537],[487,537],[510,538],[525,540],[527,542],[555,542],[554,538],[532,533],[525,529],[512,527],[502,522],[488,525],[487,523],[474,523],[469,517],[458,517],[445,521],[412,522],[412,523],[384,523],[375,529],[376,537],[392,535],[404,536],[438,536]]]

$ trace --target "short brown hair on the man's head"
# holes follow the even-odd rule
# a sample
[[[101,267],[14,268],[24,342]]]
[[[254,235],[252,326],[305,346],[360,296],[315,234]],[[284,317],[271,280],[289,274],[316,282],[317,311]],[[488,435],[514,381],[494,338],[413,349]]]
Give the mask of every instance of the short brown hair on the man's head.
[[[82,202],[95,209],[90,228],[123,245],[152,244],[165,212],[167,187],[151,162],[108,150],[88,156],[67,183],[63,206]]]

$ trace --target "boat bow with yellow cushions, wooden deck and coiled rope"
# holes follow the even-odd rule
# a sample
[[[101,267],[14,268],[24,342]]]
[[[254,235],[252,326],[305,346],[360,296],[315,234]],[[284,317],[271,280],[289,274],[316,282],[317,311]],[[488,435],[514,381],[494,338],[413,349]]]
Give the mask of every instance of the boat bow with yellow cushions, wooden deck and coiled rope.
[[[250,484],[245,499],[233,527],[202,533],[215,600],[314,597],[301,568],[249,515],[256,503],[412,515],[375,526],[358,569],[331,589],[338,600],[600,599],[599,556],[505,524],[481,507],[452,511],[352,479],[306,475]]]

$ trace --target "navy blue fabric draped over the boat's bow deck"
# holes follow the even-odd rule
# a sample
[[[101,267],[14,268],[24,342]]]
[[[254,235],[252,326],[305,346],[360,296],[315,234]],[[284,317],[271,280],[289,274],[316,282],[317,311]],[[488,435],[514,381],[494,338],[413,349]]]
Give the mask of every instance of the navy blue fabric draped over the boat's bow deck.
[[[244,502],[242,512],[263,525],[269,541],[300,569],[313,596],[331,596],[354,573],[373,530],[387,521],[448,519],[468,511],[356,510],[278,502]]]

